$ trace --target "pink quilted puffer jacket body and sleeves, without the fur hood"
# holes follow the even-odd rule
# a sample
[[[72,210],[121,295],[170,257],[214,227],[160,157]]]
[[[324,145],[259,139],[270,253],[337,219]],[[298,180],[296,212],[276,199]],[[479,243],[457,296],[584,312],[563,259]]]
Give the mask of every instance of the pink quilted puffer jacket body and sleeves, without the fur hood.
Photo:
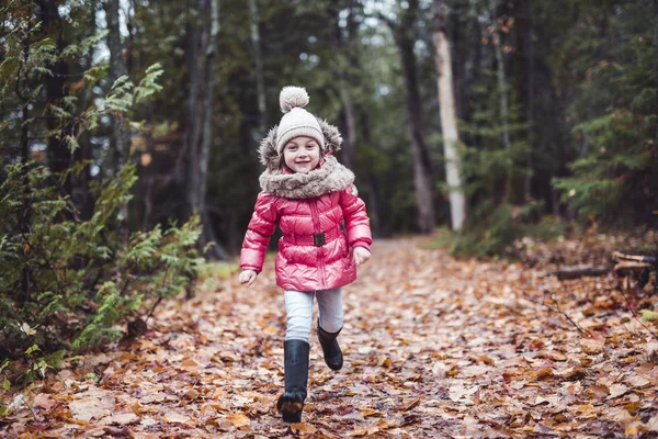
[[[261,192],[242,244],[242,270],[261,271],[270,235],[279,223],[283,236],[275,262],[277,285],[316,291],[353,282],[356,266],[352,248],[370,249],[372,243],[365,204],[353,188],[303,200]],[[343,218],[347,239],[340,227]]]

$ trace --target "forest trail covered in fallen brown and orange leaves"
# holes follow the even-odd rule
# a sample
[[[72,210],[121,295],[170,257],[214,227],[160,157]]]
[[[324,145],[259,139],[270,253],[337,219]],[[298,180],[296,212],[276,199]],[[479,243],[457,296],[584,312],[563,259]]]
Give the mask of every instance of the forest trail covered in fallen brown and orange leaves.
[[[284,424],[274,410],[283,387],[285,316],[270,261],[251,289],[238,285],[237,277],[206,282],[195,299],[163,305],[145,338],[88,356],[83,368],[25,392],[32,410],[13,413],[0,432],[658,434],[658,344],[613,291],[612,279],[558,282],[519,263],[457,261],[419,248],[420,241],[376,241],[359,281],[344,289],[342,371],[325,365],[311,335],[300,424]]]

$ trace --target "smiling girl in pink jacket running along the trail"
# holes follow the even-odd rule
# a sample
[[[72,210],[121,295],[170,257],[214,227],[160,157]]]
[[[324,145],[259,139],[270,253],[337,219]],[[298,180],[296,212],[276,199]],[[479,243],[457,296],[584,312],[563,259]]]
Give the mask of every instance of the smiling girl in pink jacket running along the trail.
[[[288,423],[302,420],[308,380],[308,338],[313,300],[317,297],[318,339],[325,362],[342,368],[337,337],[342,329],[341,286],[356,279],[356,264],[370,259],[372,244],[365,204],[354,175],[331,155],[340,149],[338,128],[303,108],[306,90],[284,87],[285,113],[261,142],[259,193],[240,255],[240,283],[251,285],[260,273],[270,236],[281,227],[275,271],[285,290],[285,392],[276,403]],[[341,222],[344,221],[344,230]]]

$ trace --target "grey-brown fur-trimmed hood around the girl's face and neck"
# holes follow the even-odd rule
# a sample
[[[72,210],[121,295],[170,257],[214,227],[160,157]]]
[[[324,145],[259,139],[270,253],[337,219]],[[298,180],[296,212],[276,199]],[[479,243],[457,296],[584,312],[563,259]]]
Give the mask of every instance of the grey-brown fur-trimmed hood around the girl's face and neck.
[[[309,199],[340,192],[354,182],[354,173],[332,156],[342,145],[340,132],[327,121],[318,119],[318,123],[325,137],[325,148],[320,166],[308,173],[281,169],[281,156],[276,153],[277,126],[270,130],[259,147],[260,160],[266,167],[259,179],[264,192],[286,199]]]

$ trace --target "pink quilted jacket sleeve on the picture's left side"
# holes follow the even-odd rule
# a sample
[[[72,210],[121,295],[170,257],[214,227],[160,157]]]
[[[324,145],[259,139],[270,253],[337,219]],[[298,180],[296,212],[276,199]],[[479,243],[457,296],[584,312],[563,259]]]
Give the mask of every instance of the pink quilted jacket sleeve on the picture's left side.
[[[274,205],[275,200],[273,195],[266,192],[258,194],[253,214],[242,241],[242,250],[240,251],[240,268],[242,270],[253,270],[260,273],[263,269],[270,236],[274,233],[279,222],[279,213]]]

